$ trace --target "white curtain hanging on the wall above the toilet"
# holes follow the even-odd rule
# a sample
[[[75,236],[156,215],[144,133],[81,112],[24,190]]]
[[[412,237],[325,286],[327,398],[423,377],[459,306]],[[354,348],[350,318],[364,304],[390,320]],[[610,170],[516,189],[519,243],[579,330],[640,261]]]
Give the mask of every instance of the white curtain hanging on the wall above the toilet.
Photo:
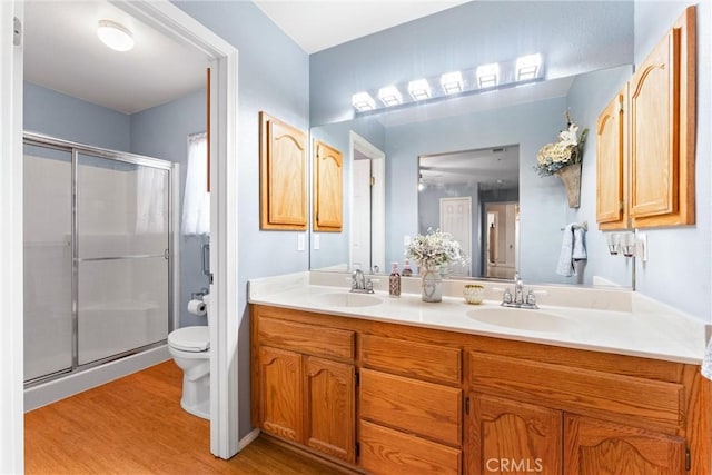
[[[188,137],[188,171],[186,192],[182,201],[184,235],[207,235],[210,232],[210,194],[208,179],[208,140],[206,133]]]

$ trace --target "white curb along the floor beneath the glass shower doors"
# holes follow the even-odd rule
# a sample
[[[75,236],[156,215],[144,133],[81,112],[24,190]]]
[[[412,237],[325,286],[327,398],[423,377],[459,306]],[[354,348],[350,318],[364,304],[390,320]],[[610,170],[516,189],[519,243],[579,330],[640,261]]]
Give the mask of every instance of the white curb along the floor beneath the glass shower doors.
[[[24,412],[27,413],[92,387],[101,386],[168,359],[170,359],[168,345],[162,345],[91,369],[32,386],[24,389]]]

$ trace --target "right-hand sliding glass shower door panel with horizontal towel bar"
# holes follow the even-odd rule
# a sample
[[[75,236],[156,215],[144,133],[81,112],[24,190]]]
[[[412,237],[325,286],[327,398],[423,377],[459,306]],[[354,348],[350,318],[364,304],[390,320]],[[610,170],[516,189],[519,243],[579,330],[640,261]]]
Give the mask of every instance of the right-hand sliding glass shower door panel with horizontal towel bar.
[[[169,170],[77,157],[78,365],[166,339]]]

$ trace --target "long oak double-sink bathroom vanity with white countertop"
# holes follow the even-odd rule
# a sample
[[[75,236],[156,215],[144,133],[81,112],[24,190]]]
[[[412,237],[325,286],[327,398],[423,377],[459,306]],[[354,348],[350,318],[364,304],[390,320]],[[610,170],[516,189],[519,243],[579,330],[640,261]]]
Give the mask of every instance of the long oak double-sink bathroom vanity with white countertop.
[[[702,324],[622,290],[537,288],[526,310],[505,283],[478,306],[457,281],[442,304],[416,278],[400,298],[320,284],[250,281],[253,424],[297,449],[388,475],[712,468]]]

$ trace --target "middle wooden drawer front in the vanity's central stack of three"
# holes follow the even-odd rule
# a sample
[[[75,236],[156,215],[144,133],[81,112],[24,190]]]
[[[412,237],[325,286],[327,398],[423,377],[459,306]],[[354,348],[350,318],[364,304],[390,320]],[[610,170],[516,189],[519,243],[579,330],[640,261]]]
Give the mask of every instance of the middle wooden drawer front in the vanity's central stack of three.
[[[364,419],[461,444],[462,389],[362,369],[359,402]]]

